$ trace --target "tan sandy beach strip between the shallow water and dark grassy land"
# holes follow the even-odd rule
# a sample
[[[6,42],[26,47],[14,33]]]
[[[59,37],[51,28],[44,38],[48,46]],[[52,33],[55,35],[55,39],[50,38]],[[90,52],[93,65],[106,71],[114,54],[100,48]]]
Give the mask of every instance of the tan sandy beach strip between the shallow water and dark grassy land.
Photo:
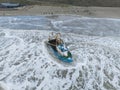
[[[14,15],[80,15],[98,18],[120,18],[119,7],[79,7],[30,5],[15,9],[0,9],[0,16]]]

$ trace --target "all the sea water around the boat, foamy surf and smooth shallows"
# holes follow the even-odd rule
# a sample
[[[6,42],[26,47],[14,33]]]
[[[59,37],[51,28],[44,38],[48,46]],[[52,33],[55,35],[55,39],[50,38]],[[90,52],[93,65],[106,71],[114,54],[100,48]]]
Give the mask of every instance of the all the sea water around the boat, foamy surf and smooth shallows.
[[[0,17],[0,90],[120,90],[120,19]],[[61,32],[74,62],[46,49]]]

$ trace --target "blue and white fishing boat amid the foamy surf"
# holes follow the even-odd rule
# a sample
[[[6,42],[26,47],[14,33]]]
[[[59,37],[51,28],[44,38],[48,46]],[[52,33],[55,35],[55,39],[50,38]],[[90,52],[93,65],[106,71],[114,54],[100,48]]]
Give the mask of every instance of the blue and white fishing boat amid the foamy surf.
[[[60,38],[60,33],[52,35],[52,37],[49,36],[46,44],[50,52],[52,52],[57,59],[67,63],[73,62],[72,54]]]

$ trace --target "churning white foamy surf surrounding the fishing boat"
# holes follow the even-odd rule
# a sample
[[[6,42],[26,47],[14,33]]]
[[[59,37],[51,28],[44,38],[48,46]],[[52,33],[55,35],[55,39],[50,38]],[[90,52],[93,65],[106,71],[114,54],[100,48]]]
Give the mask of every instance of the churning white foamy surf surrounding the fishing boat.
[[[92,19],[91,19],[92,20]],[[64,23],[64,22],[62,22]],[[74,63],[53,58],[45,47],[50,31],[2,29],[0,84],[9,90],[119,90],[120,39],[63,33]],[[7,86],[8,85],[8,86]],[[4,89],[3,89],[4,90]],[[7,90],[7,89],[5,89]]]

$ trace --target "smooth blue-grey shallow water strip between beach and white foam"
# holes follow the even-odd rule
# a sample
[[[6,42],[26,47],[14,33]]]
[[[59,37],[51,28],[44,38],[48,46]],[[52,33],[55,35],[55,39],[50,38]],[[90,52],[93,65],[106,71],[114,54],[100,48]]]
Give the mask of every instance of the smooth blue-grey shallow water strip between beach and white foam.
[[[54,30],[90,36],[120,36],[120,19],[78,16],[0,17],[0,28],[17,30]]]

